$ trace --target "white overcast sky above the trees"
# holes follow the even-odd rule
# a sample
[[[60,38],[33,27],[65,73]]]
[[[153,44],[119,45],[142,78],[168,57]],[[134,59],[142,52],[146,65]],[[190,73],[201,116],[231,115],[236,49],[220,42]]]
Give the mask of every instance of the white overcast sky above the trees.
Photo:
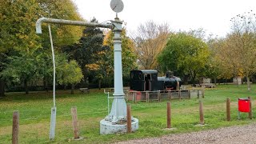
[[[90,21],[113,20],[110,0],[73,0],[78,12]],[[118,18],[126,22],[128,32],[148,20],[168,22],[171,30],[203,28],[207,34],[224,37],[230,31],[230,19],[237,14],[253,10],[256,0],[122,0],[124,10]]]

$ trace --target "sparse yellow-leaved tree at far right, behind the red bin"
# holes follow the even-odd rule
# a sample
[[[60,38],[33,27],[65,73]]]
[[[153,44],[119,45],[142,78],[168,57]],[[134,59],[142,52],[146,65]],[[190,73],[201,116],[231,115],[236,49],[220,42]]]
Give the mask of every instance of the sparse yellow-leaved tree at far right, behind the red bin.
[[[234,56],[238,58],[238,70],[246,76],[250,90],[250,76],[256,72],[256,16],[250,12],[231,18],[231,29],[227,41]]]

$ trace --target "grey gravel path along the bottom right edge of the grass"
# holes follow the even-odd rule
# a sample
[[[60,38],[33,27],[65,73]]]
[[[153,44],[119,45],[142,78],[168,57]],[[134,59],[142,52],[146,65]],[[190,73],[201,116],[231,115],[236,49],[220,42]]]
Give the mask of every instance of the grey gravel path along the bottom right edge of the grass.
[[[128,143],[173,143],[173,144],[255,144],[256,123],[246,126],[224,127],[216,130],[205,130],[187,134],[170,134],[160,138],[142,138],[118,144]]]

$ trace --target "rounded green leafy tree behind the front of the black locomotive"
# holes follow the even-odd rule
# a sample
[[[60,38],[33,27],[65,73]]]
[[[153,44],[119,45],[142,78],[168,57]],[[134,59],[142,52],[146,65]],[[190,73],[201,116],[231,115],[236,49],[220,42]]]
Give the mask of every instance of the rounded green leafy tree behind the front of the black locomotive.
[[[158,55],[158,63],[163,71],[178,70],[190,75],[193,84],[202,75],[209,57],[209,49],[201,38],[185,32],[170,34],[164,50]]]

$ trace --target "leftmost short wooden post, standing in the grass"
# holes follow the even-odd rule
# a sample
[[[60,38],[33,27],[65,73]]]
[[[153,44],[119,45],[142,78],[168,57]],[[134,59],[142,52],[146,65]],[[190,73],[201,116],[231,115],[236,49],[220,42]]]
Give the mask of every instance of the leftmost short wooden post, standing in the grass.
[[[19,131],[19,113],[14,111],[13,114],[13,138],[12,143],[18,144],[18,131]]]

